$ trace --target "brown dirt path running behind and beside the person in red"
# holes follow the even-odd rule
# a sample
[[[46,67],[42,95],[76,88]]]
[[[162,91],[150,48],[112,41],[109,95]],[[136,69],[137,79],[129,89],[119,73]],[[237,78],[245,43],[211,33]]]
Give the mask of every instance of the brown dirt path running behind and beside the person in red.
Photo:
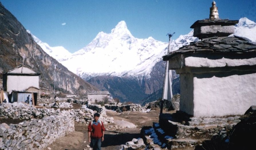
[[[141,127],[152,126],[153,122],[158,122],[159,110],[150,111],[147,113],[141,112],[122,112],[108,110],[108,117],[114,118],[114,123],[105,125],[105,141],[102,142],[102,150],[120,149],[120,145],[131,141],[133,138],[140,137]],[[135,128],[127,128],[127,122],[136,125]],[[116,127],[117,126],[117,127]],[[123,127],[122,127],[123,126]],[[52,150],[83,150],[89,149],[86,147],[88,143],[87,125],[75,122],[75,131],[60,137],[51,145],[48,145]],[[48,147],[45,150],[48,150]]]

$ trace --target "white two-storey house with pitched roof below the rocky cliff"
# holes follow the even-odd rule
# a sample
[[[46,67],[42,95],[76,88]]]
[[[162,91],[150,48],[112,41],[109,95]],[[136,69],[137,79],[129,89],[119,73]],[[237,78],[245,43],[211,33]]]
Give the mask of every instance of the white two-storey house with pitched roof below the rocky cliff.
[[[3,89],[7,91],[9,102],[37,104],[39,75],[27,67],[16,67],[3,74]]]

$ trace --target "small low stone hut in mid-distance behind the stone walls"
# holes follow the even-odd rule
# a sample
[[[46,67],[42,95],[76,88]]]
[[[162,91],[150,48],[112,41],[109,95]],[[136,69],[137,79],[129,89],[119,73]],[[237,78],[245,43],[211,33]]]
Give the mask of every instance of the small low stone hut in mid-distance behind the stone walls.
[[[104,99],[109,99],[109,91],[92,91],[87,94],[89,101],[103,101]]]

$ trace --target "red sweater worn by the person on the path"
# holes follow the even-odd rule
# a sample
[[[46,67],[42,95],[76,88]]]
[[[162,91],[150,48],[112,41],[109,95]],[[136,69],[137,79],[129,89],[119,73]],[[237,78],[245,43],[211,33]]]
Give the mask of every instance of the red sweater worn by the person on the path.
[[[91,125],[91,122],[89,123],[88,132],[91,132],[92,138],[100,139],[103,136],[102,131],[105,131],[105,127],[102,121],[101,121],[101,124],[98,122],[97,125],[95,123],[92,123],[92,125]]]

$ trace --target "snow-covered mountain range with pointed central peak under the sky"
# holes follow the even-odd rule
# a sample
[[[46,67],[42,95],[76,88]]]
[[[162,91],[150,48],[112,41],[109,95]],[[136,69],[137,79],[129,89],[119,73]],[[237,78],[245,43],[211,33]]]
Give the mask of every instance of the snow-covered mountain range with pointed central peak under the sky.
[[[255,22],[241,18],[235,25],[235,35],[256,41]],[[35,36],[33,38],[40,46],[45,47],[41,46],[44,50],[50,49],[47,43],[43,43]],[[180,35],[176,40],[172,40],[169,50],[175,51],[197,40],[197,37],[193,37],[192,30],[187,35]],[[98,75],[150,77],[153,66],[162,61],[167,49],[167,42],[157,41],[153,37],[133,37],[125,21],[120,21],[111,33],[99,32],[86,47],[57,60],[84,79]],[[55,50],[51,53],[53,51]]]

